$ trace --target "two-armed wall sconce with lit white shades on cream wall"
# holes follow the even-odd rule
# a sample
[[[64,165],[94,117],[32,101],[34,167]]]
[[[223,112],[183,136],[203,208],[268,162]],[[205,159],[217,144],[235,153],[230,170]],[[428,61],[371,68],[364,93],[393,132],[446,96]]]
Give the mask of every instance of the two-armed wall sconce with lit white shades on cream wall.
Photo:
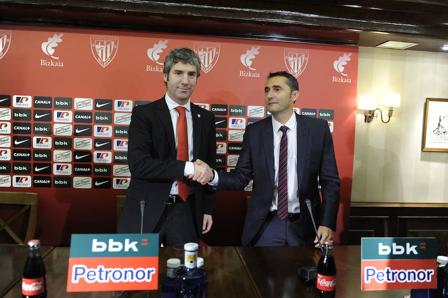
[[[383,120],[383,112],[376,107],[375,98],[373,95],[362,95],[361,99],[358,103],[358,108],[364,110],[364,122],[371,122],[373,117],[378,117],[378,114],[375,115],[375,111],[379,110],[381,115],[381,121],[383,123],[387,123],[390,121],[390,117],[394,112],[394,106],[400,106],[400,94],[399,93],[388,93],[383,99],[383,104],[389,106],[389,112],[387,116],[389,119],[387,121]]]

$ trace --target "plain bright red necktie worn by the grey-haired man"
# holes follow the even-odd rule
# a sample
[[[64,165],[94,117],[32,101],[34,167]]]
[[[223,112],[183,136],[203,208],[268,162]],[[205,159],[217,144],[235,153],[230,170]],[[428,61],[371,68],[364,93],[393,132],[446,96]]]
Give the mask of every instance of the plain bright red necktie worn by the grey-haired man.
[[[187,133],[187,117],[185,116],[185,107],[176,106],[179,113],[177,119],[177,159],[189,161],[188,158],[188,133]],[[190,181],[188,179],[179,180],[178,182],[179,197],[184,201],[190,194]]]

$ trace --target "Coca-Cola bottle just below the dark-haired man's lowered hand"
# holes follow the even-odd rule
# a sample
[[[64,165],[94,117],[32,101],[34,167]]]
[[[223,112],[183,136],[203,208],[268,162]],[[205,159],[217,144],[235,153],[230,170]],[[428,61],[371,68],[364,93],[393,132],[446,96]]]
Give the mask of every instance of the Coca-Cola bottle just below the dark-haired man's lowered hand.
[[[325,254],[321,256],[317,267],[316,298],[334,298],[336,296],[336,264],[333,257],[333,240],[324,241]]]

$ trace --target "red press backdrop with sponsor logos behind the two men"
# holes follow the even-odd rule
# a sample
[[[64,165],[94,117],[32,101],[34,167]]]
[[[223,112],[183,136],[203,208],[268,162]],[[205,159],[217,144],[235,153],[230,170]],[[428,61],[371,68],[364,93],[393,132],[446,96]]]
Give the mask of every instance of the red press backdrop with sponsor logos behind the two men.
[[[201,56],[192,102],[217,117],[217,163],[235,164],[247,124],[266,116],[269,72],[297,77],[296,111],[324,118],[341,178],[336,241],[344,242],[353,168],[357,47],[101,29],[0,28],[0,190],[39,193],[36,237],[116,231],[115,195],[129,181],[127,126],[135,104],[166,92],[172,48]],[[219,192],[205,241],[237,245],[243,192]]]

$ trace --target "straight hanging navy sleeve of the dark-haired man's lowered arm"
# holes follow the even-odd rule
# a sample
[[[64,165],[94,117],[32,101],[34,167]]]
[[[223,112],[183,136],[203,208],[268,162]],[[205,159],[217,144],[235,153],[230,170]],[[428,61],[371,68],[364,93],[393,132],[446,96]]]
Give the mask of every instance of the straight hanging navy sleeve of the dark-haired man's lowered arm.
[[[322,152],[319,183],[322,187],[321,225],[336,231],[337,211],[339,209],[340,179],[337,173],[333,137],[327,121],[325,122],[324,149]]]

